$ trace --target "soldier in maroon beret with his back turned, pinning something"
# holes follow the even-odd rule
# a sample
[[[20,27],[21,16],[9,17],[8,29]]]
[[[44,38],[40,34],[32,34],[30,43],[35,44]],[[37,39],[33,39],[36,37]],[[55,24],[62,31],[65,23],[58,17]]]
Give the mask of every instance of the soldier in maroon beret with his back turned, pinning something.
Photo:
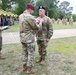
[[[34,51],[35,51],[35,39],[34,33],[38,31],[39,26],[36,24],[34,17],[34,6],[30,3],[27,4],[26,10],[20,15],[20,41],[23,47],[23,71],[32,74],[37,70],[33,69],[34,66]]]

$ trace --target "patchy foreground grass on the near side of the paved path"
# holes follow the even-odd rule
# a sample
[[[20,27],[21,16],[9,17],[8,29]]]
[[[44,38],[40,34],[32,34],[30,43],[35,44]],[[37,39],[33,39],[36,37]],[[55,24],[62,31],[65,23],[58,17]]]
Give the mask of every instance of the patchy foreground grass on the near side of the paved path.
[[[35,63],[33,75],[76,75],[76,37],[52,39],[48,45],[45,65]],[[22,72],[22,45],[3,45],[5,60],[0,60],[0,75],[28,75]],[[36,47],[35,57],[38,58]]]

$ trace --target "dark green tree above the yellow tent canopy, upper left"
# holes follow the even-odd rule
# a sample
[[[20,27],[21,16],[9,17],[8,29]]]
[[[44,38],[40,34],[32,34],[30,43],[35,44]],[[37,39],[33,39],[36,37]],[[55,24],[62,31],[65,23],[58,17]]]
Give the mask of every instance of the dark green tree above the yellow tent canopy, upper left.
[[[27,3],[32,3],[33,0],[1,0],[0,6],[3,10],[13,11],[16,14],[21,14],[25,10]],[[13,10],[12,6],[16,5],[16,8]]]

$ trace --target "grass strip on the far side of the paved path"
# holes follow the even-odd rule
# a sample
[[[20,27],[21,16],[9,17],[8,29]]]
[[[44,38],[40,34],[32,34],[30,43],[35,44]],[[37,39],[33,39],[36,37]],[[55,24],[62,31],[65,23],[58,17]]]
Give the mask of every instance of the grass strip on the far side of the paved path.
[[[57,24],[55,22],[55,24],[53,24],[53,28],[54,30],[57,30],[57,29],[73,29],[73,28],[76,28],[76,22],[73,23],[73,25],[69,25],[69,23],[67,23],[67,25],[63,25],[61,22],[60,24]],[[8,30],[5,30],[4,32],[19,32],[19,23],[16,22],[15,25],[12,25],[9,27]]]

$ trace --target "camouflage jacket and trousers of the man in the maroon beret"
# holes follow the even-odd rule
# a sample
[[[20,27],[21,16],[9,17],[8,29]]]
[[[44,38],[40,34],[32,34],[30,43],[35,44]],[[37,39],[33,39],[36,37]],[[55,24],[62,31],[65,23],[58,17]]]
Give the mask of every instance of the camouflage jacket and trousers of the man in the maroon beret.
[[[20,40],[23,47],[23,62],[27,66],[33,66],[34,51],[35,51],[35,31],[38,31],[38,26],[34,22],[34,17],[25,12],[20,15]]]

